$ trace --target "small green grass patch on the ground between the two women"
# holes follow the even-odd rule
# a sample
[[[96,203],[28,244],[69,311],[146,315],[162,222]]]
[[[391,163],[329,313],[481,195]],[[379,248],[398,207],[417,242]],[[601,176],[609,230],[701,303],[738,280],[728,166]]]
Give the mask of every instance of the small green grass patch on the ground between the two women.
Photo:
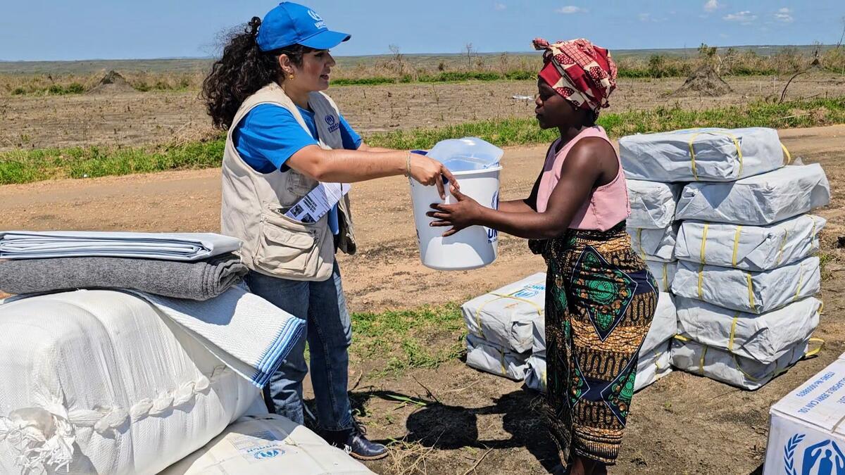
[[[355,358],[386,361],[377,375],[433,369],[465,351],[466,327],[457,303],[352,314]]]

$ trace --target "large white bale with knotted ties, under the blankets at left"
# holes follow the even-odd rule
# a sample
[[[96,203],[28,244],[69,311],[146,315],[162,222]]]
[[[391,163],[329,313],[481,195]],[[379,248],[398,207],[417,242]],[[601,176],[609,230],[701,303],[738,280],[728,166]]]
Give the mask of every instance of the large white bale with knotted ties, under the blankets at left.
[[[128,293],[6,302],[0,334],[0,473],[157,473],[259,396]]]

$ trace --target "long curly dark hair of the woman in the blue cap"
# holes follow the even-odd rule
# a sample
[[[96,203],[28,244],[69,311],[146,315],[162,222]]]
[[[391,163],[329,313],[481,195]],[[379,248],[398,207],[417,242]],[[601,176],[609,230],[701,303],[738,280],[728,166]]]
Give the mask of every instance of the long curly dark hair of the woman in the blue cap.
[[[211,66],[203,81],[200,97],[215,128],[232,127],[237,109],[247,97],[271,82],[281,84],[285,80],[279,65],[281,54],[301,67],[303,55],[315,51],[308,46],[292,45],[263,52],[256,41],[259,26],[261,19],[253,17],[243,30],[237,28],[227,35],[222,57]]]

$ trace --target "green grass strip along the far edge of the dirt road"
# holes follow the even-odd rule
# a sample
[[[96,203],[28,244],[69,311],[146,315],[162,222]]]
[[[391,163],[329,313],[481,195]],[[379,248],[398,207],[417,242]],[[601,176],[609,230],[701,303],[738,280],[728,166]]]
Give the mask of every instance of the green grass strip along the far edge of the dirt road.
[[[705,111],[684,110],[676,105],[648,111],[604,112],[598,123],[612,137],[694,127],[815,127],[845,123],[845,96],[783,104],[754,102]],[[541,130],[535,119],[526,117],[396,130],[370,134],[365,141],[368,145],[410,150],[428,149],[440,140],[467,136],[499,146],[536,145],[551,142],[556,134],[556,129]],[[219,167],[223,146],[221,134],[210,141],[176,146],[10,150],[0,152],[0,184]]]

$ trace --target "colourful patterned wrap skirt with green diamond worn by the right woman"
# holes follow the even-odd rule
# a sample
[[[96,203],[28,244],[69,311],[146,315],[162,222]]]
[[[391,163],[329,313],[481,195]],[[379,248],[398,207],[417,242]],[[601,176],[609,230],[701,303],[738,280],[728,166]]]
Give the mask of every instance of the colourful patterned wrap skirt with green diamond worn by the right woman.
[[[570,455],[613,465],[634,396],[657,282],[624,221],[529,242],[548,265],[545,415],[564,464]]]

